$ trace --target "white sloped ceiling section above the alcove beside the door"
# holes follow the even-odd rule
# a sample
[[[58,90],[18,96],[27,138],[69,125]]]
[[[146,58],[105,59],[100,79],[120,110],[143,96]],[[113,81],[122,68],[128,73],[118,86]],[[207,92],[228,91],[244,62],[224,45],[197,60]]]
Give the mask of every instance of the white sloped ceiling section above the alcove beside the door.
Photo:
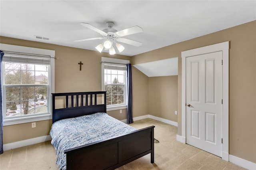
[[[178,57],[133,65],[148,77],[178,75]]]

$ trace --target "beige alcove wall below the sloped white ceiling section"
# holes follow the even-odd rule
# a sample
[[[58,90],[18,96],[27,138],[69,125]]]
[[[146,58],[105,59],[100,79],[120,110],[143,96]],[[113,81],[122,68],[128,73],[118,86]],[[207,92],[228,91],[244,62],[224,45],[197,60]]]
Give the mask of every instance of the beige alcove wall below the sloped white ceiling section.
[[[149,115],[177,122],[178,76],[149,77],[148,89]]]

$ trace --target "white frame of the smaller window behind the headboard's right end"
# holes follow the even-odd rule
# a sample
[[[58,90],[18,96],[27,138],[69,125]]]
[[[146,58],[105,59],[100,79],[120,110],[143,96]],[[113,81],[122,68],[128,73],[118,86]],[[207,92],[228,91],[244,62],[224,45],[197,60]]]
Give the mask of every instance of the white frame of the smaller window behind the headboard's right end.
[[[101,68],[102,68],[102,91],[105,91],[105,82],[104,82],[104,65],[117,65],[117,66],[124,66],[128,63],[130,63],[129,60],[124,59],[114,59],[114,58],[108,58],[108,57],[101,57]],[[114,110],[120,110],[120,109],[127,109],[127,70],[125,75],[125,94],[124,94],[124,104],[118,104],[118,105],[107,105],[107,111],[114,111]]]

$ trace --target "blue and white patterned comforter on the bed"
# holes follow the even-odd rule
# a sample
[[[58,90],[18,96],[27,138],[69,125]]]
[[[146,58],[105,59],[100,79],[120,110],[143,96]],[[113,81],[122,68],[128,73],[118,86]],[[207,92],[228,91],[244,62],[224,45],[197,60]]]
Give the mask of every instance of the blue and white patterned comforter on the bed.
[[[60,170],[66,169],[64,150],[134,130],[137,129],[108,116],[106,113],[95,113],[57,121],[52,125],[50,131],[52,145],[56,150],[56,164]]]

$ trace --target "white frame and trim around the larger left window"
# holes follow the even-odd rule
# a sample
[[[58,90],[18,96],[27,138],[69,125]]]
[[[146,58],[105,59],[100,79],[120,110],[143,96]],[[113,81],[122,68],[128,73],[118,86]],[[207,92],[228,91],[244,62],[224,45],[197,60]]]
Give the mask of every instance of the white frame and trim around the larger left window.
[[[31,116],[26,116],[26,117],[18,117],[18,118],[8,118],[8,119],[3,119],[3,126],[8,126],[8,125],[16,125],[20,123],[29,123],[29,122],[36,122],[36,121],[44,121],[44,120],[49,120],[52,119],[52,99],[51,99],[51,93],[54,93],[55,91],[55,51],[54,50],[48,50],[48,49],[39,49],[39,48],[33,48],[33,47],[24,47],[24,46],[19,46],[19,45],[10,45],[10,44],[3,44],[0,43],[0,49],[5,52],[13,52],[13,53],[25,53],[25,54],[30,54],[30,55],[48,55],[50,56],[50,69],[48,70],[48,75],[50,76],[49,78],[49,99],[48,99],[48,106],[49,106],[49,113],[40,115],[31,115]],[[3,65],[3,63],[2,63]],[[3,67],[2,67],[3,68]],[[4,70],[1,70],[1,77],[4,77]],[[2,80],[3,81],[3,80]],[[2,92],[4,90],[4,85],[1,83],[2,86]],[[5,99],[4,93],[2,93],[2,99]],[[3,100],[3,105],[4,105],[4,100]],[[4,107],[2,107],[2,114],[5,113]],[[4,118],[4,115],[2,115]]]

